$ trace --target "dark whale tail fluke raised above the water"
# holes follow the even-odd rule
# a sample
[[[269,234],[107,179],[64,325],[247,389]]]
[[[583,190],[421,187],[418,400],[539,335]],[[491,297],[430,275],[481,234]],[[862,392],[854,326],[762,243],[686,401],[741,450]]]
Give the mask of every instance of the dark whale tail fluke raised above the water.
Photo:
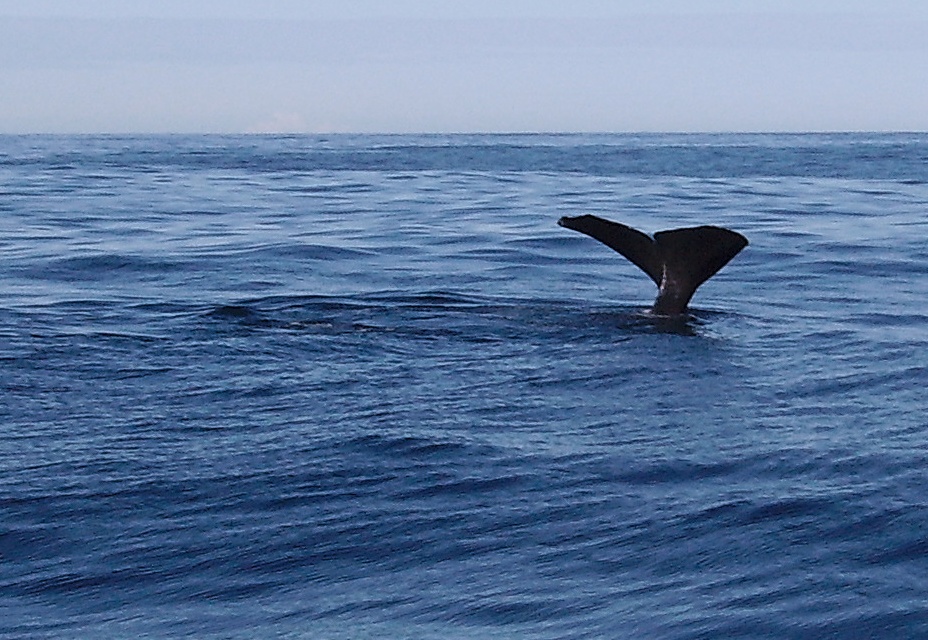
[[[585,233],[615,249],[658,286],[651,313],[686,313],[696,289],[748,244],[740,233],[721,227],[689,227],[659,231],[650,236],[598,216],[563,217],[557,223]]]

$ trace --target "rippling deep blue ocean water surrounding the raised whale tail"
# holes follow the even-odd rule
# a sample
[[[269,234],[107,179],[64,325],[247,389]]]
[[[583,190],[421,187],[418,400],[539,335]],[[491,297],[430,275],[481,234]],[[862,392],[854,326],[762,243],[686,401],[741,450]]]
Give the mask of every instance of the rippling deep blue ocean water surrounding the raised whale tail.
[[[928,134],[0,137],[0,637],[926,638],[926,347]]]

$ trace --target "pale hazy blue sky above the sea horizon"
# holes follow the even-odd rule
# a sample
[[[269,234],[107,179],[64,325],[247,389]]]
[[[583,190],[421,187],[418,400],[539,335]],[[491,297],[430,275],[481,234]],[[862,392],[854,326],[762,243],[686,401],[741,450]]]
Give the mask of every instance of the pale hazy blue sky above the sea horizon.
[[[0,0],[0,133],[928,130],[925,0]]]

